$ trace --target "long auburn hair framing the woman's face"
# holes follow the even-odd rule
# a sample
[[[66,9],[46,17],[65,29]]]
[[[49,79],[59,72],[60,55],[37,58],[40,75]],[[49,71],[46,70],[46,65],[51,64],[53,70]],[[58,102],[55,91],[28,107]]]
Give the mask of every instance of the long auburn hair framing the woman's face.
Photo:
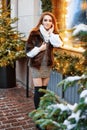
[[[54,24],[54,33],[58,33],[58,27],[57,27],[56,18],[55,18],[55,16],[54,16],[54,14],[51,13],[51,12],[43,12],[43,13],[41,14],[41,17],[40,17],[39,21],[38,21],[38,24],[36,25],[35,28],[32,29],[32,31],[37,31],[37,30],[39,30],[39,27],[40,27],[40,25],[42,24],[42,21],[43,21],[43,18],[44,18],[45,15],[49,15],[49,16],[52,18],[52,22],[53,22],[53,24]]]

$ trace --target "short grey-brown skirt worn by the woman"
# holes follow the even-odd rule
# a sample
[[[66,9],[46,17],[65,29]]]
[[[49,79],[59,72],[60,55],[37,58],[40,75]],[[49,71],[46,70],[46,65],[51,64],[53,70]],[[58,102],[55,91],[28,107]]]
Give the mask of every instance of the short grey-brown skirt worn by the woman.
[[[50,77],[51,68],[47,66],[41,66],[40,69],[30,67],[32,78],[48,78]]]

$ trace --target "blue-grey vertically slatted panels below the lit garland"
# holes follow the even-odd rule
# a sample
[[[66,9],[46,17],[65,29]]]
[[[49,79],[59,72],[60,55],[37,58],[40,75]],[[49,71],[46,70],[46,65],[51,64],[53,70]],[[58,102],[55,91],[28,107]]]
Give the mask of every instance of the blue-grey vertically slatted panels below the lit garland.
[[[70,104],[78,103],[79,101],[79,93],[78,93],[78,85],[71,86],[67,88],[66,91],[63,91],[63,86],[58,87],[58,83],[63,79],[63,75],[52,71],[50,76],[50,81],[48,84],[48,89],[55,92],[58,96],[60,96],[62,99],[64,99],[66,102],[69,102]]]

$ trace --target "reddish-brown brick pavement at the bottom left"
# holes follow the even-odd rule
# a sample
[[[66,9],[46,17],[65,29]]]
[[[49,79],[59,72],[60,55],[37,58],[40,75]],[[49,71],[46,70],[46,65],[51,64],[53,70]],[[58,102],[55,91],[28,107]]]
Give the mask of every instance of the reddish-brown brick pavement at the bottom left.
[[[36,130],[28,114],[34,109],[33,93],[23,86],[0,89],[0,130]]]

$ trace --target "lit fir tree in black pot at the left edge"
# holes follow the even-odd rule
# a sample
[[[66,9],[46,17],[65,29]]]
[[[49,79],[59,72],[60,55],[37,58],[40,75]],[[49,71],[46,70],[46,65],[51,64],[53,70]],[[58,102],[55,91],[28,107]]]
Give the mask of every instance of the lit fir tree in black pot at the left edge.
[[[0,8],[0,88],[16,86],[15,61],[25,57],[23,35],[13,26],[18,19],[10,11]]]

